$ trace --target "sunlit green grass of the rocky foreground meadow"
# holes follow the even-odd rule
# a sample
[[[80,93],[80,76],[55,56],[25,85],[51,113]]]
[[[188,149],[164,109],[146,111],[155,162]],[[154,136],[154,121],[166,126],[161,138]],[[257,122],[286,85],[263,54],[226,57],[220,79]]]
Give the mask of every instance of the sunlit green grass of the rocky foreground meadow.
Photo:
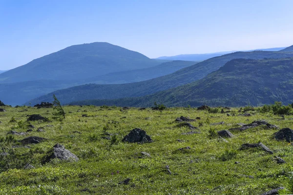
[[[233,128],[237,126],[236,123],[251,123],[256,119],[265,119],[280,128],[292,128],[291,116],[279,120],[279,116],[253,111],[255,114],[252,117],[228,117],[226,114],[210,114],[192,108],[168,108],[162,112],[137,108],[121,112],[121,108],[115,107],[101,111],[100,107],[94,106],[63,108],[66,119],[62,122],[51,119],[53,109],[6,107],[7,112],[0,113],[2,137],[11,129],[25,132],[26,128],[18,124],[26,120],[26,115],[41,114],[51,119],[51,122],[31,122],[35,129],[29,136],[48,138],[40,144],[30,145],[35,151],[32,163],[35,169],[13,169],[0,173],[0,194],[259,195],[280,186],[290,187],[293,146],[272,139],[272,134],[277,130],[257,127],[244,132],[231,131],[235,137],[226,138],[228,143],[217,137],[209,137],[209,131],[211,128],[215,131]],[[23,109],[27,111],[22,112]],[[83,114],[88,117],[82,117]],[[182,135],[191,130],[177,126],[175,119],[180,116],[201,117],[201,120],[190,122],[199,128],[194,131],[200,131],[201,134]],[[9,122],[12,117],[16,122]],[[210,125],[220,121],[225,121],[225,124]],[[39,127],[45,132],[37,132]],[[122,142],[122,138],[134,128],[145,130],[154,142]],[[105,132],[118,135],[107,140],[102,138]],[[27,136],[14,137],[20,140]],[[243,143],[259,141],[274,154],[257,149],[239,150]],[[80,161],[53,161],[42,165],[43,157],[56,143],[63,144]],[[177,151],[187,146],[191,149]],[[143,151],[151,157],[141,157]],[[280,156],[287,163],[277,164],[273,156]],[[240,163],[234,164],[235,161]],[[166,165],[172,175],[168,174]],[[126,178],[131,178],[128,185],[118,184]]]

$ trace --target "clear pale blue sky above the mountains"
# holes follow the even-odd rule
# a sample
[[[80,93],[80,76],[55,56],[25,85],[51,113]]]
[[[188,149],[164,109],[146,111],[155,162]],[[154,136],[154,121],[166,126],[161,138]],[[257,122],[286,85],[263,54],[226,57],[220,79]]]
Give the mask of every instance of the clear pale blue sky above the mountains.
[[[0,70],[109,42],[149,58],[293,45],[293,0],[0,0]]]

